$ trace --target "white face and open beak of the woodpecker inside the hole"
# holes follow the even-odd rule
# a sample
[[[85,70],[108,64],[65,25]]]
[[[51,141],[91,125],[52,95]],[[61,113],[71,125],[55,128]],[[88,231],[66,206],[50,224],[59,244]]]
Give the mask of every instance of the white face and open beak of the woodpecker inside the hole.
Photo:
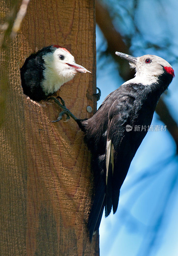
[[[73,79],[77,72],[89,72],[86,68],[76,64],[74,56],[65,48],[54,47],[54,51],[45,54],[43,60],[45,79],[42,86],[46,95],[58,91],[60,86]]]

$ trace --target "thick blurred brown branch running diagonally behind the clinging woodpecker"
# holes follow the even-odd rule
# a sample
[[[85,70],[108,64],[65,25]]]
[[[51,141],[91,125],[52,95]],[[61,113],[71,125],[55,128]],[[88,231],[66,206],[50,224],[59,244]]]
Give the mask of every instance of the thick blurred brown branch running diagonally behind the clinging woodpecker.
[[[96,1],[96,22],[100,29],[102,30],[105,39],[108,43],[107,51],[112,55],[114,60],[119,64],[119,73],[124,80],[129,80],[133,78],[134,72],[128,67],[128,63],[118,58],[115,52],[130,53],[128,45],[124,42],[122,36],[112,24],[112,19],[106,7]],[[131,53],[130,53],[131,54]],[[167,126],[167,129],[171,133],[173,139],[175,140],[176,146],[178,148],[178,126],[174,121],[173,117],[170,115],[166,104],[162,99],[159,100],[156,112],[159,115],[162,122]]]

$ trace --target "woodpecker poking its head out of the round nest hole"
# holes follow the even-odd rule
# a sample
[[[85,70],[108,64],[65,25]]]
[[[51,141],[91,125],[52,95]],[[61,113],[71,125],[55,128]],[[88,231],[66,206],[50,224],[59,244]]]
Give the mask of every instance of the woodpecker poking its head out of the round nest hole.
[[[56,44],[44,47],[31,54],[20,68],[23,92],[32,100],[44,100],[77,72],[91,73],[76,64],[74,56],[65,48]]]

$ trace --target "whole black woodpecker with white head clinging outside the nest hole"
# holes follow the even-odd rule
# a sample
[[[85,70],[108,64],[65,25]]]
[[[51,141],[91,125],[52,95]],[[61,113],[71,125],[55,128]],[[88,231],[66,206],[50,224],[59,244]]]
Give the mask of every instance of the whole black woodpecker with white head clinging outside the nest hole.
[[[116,52],[116,55],[129,61],[130,66],[135,68],[135,77],[111,92],[94,116],[77,119],[65,107],[62,99],[62,105],[55,99],[63,108],[61,113],[71,116],[85,132],[85,140],[93,156],[96,190],[89,215],[90,239],[99,228],[104,207],[106,217],[111,209],[113,213],[116,212],[120,187],[131,161],[148,131],[161,94],[174,77],[171,65],[158,56],[135,58],[121,52]],[[128,132],[127,125],[143,125],[147,129],[138,131],[133,128]]]

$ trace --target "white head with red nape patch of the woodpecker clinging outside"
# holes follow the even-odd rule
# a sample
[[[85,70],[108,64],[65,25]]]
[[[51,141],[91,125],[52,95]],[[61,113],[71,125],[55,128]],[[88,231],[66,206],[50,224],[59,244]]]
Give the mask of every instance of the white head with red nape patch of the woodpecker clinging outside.
[[[174,70],[164,59],[156,55],[143,55],[133,57],[131,55],[116,52],[116,55],[128,60],[131,68],[135,68],[135,81],[143,85],[163,83],[167,88],[174,77]]]

